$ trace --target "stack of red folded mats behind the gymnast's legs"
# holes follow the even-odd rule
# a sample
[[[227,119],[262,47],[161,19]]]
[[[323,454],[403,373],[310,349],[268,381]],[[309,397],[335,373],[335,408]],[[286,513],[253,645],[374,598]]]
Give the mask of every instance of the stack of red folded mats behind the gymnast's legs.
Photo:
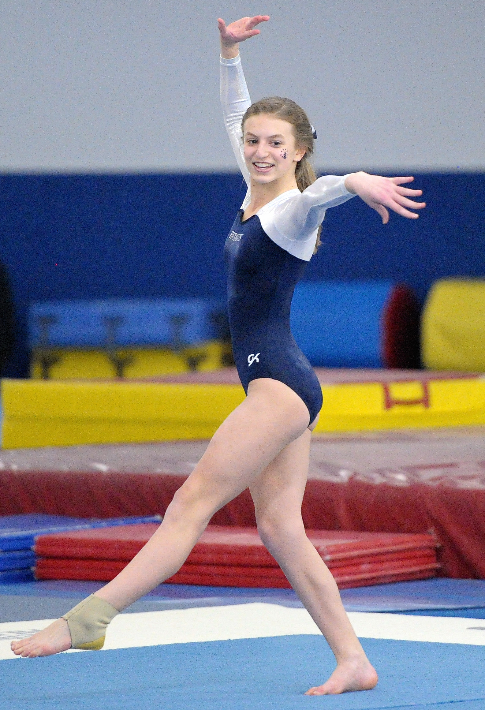
[[[37,579],[108,581],[120,572],[158,525],[79,530],[36,539]],[[432,535],[307,530],[341,589],[434,577]],[[283,587],[290,584],[256,528],[209,525],[171,584]]]

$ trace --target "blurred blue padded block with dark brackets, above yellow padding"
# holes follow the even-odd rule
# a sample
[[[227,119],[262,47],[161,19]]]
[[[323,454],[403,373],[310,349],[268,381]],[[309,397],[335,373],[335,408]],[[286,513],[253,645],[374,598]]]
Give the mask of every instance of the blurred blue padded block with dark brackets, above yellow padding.
[[[29,309],[29,344],[51,346],[103,346],[107,344],[105,318],[119,317],[114,344],[160,345],[175,342],[171,317],[186,317],[180,340],[193,345],[217,338],[214,314],[224,311],[225,301],[214,298],[119,298],[33,302]],[[51,316],[48,342],[41,342],[39,317]]]

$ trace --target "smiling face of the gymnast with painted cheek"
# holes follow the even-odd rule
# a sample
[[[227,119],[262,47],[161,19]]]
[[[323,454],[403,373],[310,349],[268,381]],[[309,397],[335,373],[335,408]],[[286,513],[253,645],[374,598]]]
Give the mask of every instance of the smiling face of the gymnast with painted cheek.
[[[244,124],[244,160],[255,182],[295,179],[305,148],[295,146],[293,126],[273,114],[251,116]]]

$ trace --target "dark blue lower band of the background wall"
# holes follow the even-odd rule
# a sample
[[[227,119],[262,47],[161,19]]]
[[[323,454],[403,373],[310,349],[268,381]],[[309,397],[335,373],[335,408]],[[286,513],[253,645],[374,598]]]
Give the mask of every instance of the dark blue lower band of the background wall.
[[[485,175],[415,175],[420,219],[383,226],[359,199],[329,209],[305,278],[392,278],[424,300],[436,278],[485,275]],[[0,261],[16,301],[10,376],[27,371],[26,307],[45,298],[221,296],[238,175],[0,176]]]

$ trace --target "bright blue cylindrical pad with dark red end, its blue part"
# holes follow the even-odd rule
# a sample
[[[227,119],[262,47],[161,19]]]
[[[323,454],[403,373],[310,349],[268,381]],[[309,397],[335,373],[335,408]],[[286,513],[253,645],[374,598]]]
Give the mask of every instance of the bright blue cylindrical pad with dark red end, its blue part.
[[[313,366],[383,367],[381,328],[391,281],[303,281],[291,330]]]

